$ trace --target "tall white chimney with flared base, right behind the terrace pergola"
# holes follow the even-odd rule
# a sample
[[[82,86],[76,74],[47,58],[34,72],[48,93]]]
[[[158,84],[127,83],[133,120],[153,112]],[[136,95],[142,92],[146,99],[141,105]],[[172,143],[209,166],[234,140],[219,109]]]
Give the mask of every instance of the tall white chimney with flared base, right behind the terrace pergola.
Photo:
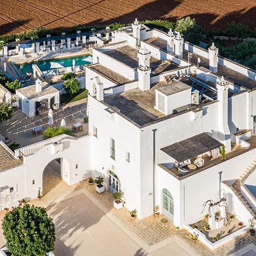
[[[226,152],[231,151],[230,130],[228,125],[228,90],[229,83],[222,76],[217,82],[218,132],[220,141],[224,144]]]

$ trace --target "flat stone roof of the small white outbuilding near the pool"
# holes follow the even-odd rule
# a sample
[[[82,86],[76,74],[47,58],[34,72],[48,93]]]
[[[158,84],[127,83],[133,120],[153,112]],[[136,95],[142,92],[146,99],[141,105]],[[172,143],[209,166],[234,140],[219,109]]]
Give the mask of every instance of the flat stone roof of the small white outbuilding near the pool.
[[[29,86],[20,88],[17,91],[28,99],[38,98],[44,95],[59,92],[59,90],[49,85],[48,82],[42,82],[42,92],[36,92],[35,85],[29,85]]]

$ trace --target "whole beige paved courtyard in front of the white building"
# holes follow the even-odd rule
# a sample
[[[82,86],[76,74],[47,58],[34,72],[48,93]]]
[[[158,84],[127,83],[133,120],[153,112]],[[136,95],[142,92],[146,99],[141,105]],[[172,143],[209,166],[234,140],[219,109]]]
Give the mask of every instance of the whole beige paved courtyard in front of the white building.
[[[56,256],[235,255],[236,251],[256,243],[256,237],[245,233],[211,251],[199,241],[192,242],[186,230],[175,230],[170,221],[163,223],[164,216],[132,220],[126,208],[113,208],[109,192],[98,194],[87,181],[69,187],[59,179],[59,172],[51,170],[56,167],[57,163],[53,163],[45,170],[47,179],[55,180],[47,188],[48,193],[41,200],[30,202],[46,207],[55,222]],[[3,215],[1,212],[0,217]],[[5,244],[1,232],[0,247]]]

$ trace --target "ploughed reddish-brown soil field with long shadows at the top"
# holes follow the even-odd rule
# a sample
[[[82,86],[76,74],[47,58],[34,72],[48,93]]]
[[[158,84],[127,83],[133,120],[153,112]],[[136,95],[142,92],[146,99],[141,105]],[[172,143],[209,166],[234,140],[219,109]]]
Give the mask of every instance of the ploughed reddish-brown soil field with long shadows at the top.
[[[1,0],[0,35],[39,25],[65,30],[76,24],[130,23],[135,18],[192,16],[204,28],[236,20],[256,27],[256,0]]]

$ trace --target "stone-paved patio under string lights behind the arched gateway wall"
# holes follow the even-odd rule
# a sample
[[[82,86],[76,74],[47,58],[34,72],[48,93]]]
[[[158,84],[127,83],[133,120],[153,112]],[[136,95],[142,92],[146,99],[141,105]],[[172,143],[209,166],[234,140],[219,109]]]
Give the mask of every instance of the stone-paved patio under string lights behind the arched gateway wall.
[[[72,104],[61,106],[60,109],[53,110],[53,126],[59,126],[61,122],[61,119],[57,122],[54,122],[54,120],[69,115],[65,118],[66,126],[69,129],[72,129],[73,123],[81,122],[83,124],[83,131],[79,131],[79,133],[76,133],[74,135],[76,137],[81,137],[85,134],[88,134],[88,123],[84,123],[84,118],[86,117],[86,105],[87,99],[82,99],[80,101],[72,102]],[[40,121],[41,119],[42,121]],[[7,143],[7,145],[16,142],[20,144],[20,147],[24,147],[29,144],[43,140],[43,135],[38,135],[36,137],[35,135],[32,134],[32,128],[44,125],[47,122],[48,112],[45,112],[42,115],[36,115],[35,117],[26,118],[26,115],[23,112],[21,112],[20,110],[16,110],[11,119],[1,123],[0,134],[6,135],[6,137],[10,141],[9,143]],[[48,124],[44,125],[43,130],[46,129],[47,127]],[[9,130],[7,131],[7,129]],[[27,130],[26,133],[21,132],[16,134],[17,132],[24,130]]]

